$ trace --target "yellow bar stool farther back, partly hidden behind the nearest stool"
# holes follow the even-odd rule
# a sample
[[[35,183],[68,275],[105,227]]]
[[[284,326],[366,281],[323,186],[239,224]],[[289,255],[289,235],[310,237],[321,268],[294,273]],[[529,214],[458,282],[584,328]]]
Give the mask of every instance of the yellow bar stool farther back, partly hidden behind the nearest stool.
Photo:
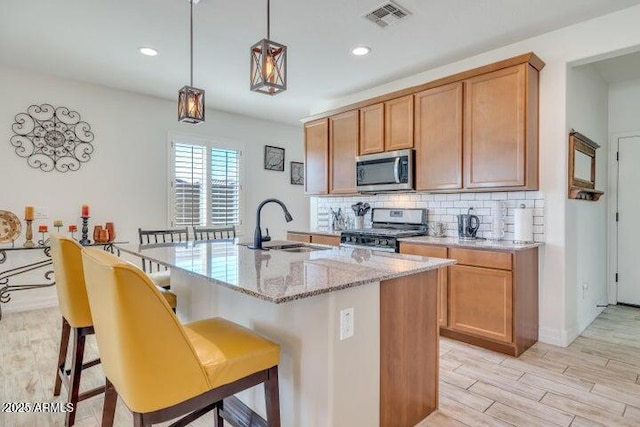
[[[60,395],[60,389],[64,383],[68,390],[67,401],[73,405],[73,410],[66,413],[65,425],[72,426],[75,423],[78,402],[104,392],[105,388],[104,386],[96,387],[80,393],[82,371],[100,363],[99,358],[84,362],[86,337],[94,333],[94,328],[82,268],[82,246],[66,236],[52,234],[51,257],[58,304],[62,313],[62,334],[53,395]],[[176,295],[165,291],[163,296],[175,309]],[[73,355],[71,366],[67,367],[67,350],[72,332]]]

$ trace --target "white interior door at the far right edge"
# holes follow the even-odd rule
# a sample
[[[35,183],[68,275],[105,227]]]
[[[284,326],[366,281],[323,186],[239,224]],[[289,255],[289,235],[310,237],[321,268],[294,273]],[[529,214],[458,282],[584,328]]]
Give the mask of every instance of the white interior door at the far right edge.
[[[618,139],[618,302],[640,306],[640,136]]]

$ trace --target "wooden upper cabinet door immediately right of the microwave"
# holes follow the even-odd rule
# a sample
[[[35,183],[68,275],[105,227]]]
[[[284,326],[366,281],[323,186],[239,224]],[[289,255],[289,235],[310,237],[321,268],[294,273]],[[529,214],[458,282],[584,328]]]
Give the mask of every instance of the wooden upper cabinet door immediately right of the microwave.
[[[416,189],[462,188],[462,83],[428,89],[415,100]]]

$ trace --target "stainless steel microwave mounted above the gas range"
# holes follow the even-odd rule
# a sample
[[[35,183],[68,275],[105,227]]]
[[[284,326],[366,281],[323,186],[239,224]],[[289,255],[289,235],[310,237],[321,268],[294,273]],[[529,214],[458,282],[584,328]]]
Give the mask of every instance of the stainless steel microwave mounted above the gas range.
[[[356,190],[413,190],[413,150],[388,151],[356,157]]]

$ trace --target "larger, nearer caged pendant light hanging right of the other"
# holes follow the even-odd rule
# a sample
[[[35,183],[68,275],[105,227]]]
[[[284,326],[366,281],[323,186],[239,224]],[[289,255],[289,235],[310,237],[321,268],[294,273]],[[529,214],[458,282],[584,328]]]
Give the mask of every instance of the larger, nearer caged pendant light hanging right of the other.
[[[287,90],[287,47],[271,37],[270,0],[267,0],[267,38],[251,46],[251,90],[277,95]]]

